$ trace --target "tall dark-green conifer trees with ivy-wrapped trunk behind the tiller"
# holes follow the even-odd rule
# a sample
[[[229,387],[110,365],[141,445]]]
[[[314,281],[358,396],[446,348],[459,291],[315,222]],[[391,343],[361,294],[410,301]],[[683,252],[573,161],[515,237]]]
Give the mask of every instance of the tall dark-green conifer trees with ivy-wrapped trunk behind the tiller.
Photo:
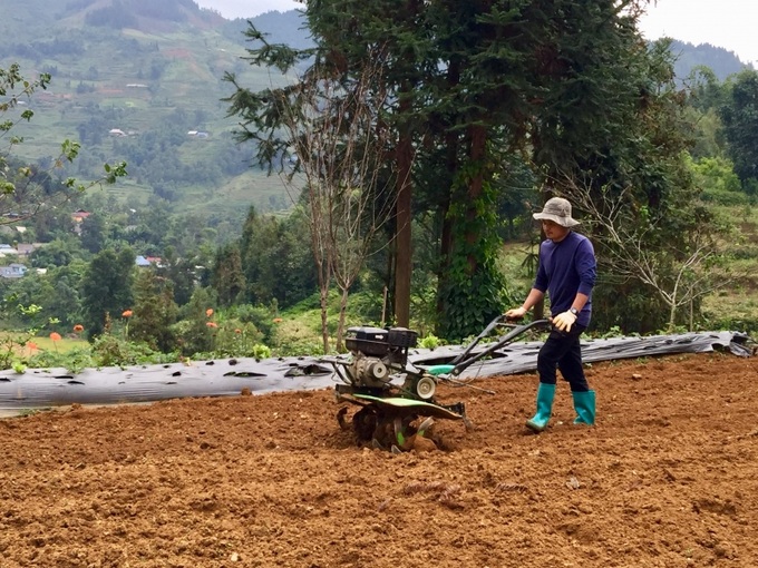
[[[389,94],[391,102],[377,124],[395,133],[398,143],[388,156],[399,175],[406,168],[421,174],[409,177],[421,188],[412,209],[435,219],[429,241],[443,257],[427,267],[435,271],[438,290],[426,309],[434,305],[444,314],[440,329],[450,336],[480,329],[502,307],[492,239],[501,226],[489,213],[502,204],[513,222],[528,208],[523,200],[535,177],[576,164],[577,170],[600,172],[602,186],[645,188],[651,202],[673,183],[671,164],[650,160],[660,158],[655,151],[677,156],[684,147],[682,137],[665,136],[679,133],[676,114],[665,112],[676,97],[658,97],[657,90],[672,77],[671,67],[661,65],[669,46],[645,51],[630,16],[635,10],[608,2],[587,9],[574,1],[526,2],[518,9],[470,2],[353,8],[325,2],[308,10],[315,42],[309,51],[270,45],[251,27],[247,37],[262,45],[250,50],[253,65],[285,71],[311,57],[313,65],[301,84],[256,92],[229,76],[237,89],[229,98],[230,114],[241,117],[240,138],[255,140],[262,163],[286,169],[284,158],[301,140],[283,138],[282,126],[302,110],[293,102],[299,89],[323,79],[349,89],[369,65],[379,63],[372,89]],[[325,78],[319,75],[323,69]],[[657,118],[660,129],[644,131]],[[424,131],[424,144],[414,146],[415,131]],[[528,175],[534,174],[524,167],[528,160],[513,158],[515,150],[532,151],[538,176]],[[503,164],[508,172],[498,176]],[[490,192],[488,185],[501,180],[505,195],[483,197],[483,188]],[[407,226],[409,221],[398,217],[387,242],[405,251],[407,242],[392,239],[405,237]],[[400,294],[411,267],[405,256],[397,258],[387,273],[398,285],[387,283],[395,313],[402,314],[408,300]],[[428,286],[421,291],[428,300]]]

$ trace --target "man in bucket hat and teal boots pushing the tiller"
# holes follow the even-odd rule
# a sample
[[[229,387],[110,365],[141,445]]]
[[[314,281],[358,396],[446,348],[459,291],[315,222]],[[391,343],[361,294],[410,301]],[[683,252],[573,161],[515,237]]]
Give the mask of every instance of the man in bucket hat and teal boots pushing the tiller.
[[[537,413],[526,421],[526,427],[535,432],[547,428],[555,398],[556,368],[571,385],[576,410],[574,424],[594,424],[595,391],[590,390],[584,376],[579,337],[592,314],[595,253],[587,237],[572,231],[579,222],[571,217],[571,204],[566,199],[553,197],[542,213],[533,216],[542,221],[547,237],[540,245],[537,276],[522,306],[505,313],[508,319],[519,320],[545,292],[550,296],[553,329],[537,355]]]

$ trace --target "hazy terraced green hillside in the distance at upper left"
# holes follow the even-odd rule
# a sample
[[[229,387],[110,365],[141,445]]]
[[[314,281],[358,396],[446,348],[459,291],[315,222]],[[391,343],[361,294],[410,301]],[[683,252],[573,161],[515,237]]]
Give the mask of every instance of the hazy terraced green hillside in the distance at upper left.
[[[233,92],[222,80],[227,71],[255,90],[282,80],[242,59],[246,22],[191,0],[153,4],[123,1],[114,11],[108,0],[30,0],[0,21],[0,66],[19,62],[28,77],[52,77],[17,109],[36,114],[14,129],[25,137],[14,153],[54,157],[64,139],[77,139],[81,157],[67,175],[95,177],[103,161],[125,159],[129,178],[111,190],[143,202],[156,193],[177,210],[202,207],[220,217],[250,204],[288,207],[281,182],[251,167],[253,148],[232,139],[236,120],[222,101]]]

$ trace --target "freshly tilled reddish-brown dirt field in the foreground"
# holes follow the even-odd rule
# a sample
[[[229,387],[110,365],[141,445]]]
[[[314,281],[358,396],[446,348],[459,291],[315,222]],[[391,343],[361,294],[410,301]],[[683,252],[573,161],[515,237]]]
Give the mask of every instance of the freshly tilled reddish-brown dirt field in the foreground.
[[[758,358],[594,364],[597,425],[484,380],[448,451],[357,448],[332,391],[0,420],[0,566],[758,566]]]

